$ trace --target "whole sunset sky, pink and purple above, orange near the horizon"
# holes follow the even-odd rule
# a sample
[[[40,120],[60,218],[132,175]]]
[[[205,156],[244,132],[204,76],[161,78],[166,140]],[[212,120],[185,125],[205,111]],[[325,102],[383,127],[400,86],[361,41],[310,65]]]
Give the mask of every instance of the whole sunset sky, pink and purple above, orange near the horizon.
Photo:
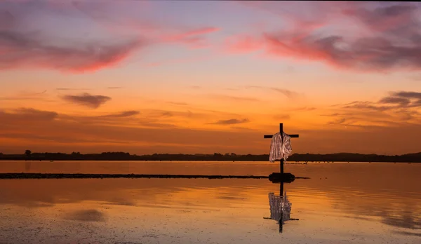
[[[1,1],[0,152],[421,151],[421,4]]]

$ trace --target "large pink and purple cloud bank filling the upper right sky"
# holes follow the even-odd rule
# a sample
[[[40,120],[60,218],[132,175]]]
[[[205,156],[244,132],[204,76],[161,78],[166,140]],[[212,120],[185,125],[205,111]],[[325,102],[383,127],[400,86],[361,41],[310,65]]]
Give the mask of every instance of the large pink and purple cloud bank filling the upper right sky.
[[[239,45],[243,51],[261,49],[269,56],[323,62],[336,69],[421,69],[420,8],[408,4],[368,7],[340,4],[330,8],[331,12],[320,8],[318,15],[314,14],[318,8],[314,8],[308,21],[303,15],[283,13],[281,17],[293,23],[290,29],[254,37],[239,35],[236,43],[250,43]],[[329,15],[335,18],[327,21]]]

